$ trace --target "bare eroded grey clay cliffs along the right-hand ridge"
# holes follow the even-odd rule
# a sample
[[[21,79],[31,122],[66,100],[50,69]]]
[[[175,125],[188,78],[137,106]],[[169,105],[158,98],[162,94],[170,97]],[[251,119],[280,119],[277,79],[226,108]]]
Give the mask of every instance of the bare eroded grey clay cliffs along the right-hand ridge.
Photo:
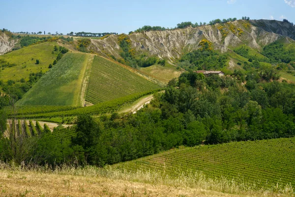
[[[242,33],[238,33],[238,29]],[[246,44],[256,51],[282,36],[294,39],[295,27],[280,21],[235,21],[214,26],[201,26],[167,31],[150,31],[129,35],[132,48],[146,52],[174,63],[182,54],[198,49],[199,42],[207,39],[214,49],[221,52]],[[91,40],[90,48],[100,55],[113,55],[119,58],[118,35],[111,35],[103,40]]]

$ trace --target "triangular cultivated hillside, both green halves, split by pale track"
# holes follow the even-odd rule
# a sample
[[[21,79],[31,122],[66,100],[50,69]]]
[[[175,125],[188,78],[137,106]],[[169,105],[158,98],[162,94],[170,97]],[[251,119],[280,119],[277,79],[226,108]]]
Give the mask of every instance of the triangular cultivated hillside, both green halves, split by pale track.
[[[84,106],[159,89],[160,86],[105,58],[68,53],[17,105]]]

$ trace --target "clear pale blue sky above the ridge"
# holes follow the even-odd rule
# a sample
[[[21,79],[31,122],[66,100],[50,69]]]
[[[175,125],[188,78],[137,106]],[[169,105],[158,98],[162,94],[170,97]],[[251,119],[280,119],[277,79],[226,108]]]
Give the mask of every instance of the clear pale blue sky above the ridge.
[[[175,27],[183,21],[288,19],[295,0],[0,0],[0,28],[12,32],[128,33],[144,25]]]

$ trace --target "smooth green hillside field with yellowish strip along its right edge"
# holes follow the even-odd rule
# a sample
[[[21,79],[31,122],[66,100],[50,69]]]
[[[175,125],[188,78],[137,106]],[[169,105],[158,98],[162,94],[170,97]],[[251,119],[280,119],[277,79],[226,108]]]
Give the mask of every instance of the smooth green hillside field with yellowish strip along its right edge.
[[[17,105],[80,106],[82,82],[90,54],[67,53]]]

